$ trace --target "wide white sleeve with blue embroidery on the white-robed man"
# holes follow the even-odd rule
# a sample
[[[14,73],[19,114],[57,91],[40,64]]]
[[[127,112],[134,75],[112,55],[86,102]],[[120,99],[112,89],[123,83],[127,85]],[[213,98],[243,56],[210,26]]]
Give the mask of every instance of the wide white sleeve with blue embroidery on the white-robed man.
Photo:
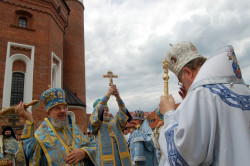
[[[216,108],[204,88],[188,94],[175,112],[164,116],[165,154],[170,165],[210,164],[216,128]]]

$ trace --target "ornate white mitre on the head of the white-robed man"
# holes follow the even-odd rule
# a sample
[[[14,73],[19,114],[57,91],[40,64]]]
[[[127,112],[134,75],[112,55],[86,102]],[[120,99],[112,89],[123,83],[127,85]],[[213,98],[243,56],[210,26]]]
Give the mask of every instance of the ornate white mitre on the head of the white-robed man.
[[[202,57],[191,42],[170,45],[166,61],[169,69],[178,77],[182,68],[190,61]]]

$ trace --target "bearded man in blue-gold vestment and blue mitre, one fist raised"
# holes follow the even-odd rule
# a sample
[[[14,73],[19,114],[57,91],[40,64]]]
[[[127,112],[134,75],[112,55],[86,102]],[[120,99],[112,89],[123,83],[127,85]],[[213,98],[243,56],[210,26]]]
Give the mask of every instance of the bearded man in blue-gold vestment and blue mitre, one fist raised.
[[[39,128],[34,130],[32,114],[20,102],[15,111],[24,118],[25,126],[21,150],[17,153],[18,165],[85,165],[95,164],[95,142],[90,142],[67,115],[65,93],[60,88],[43,92],[41,100],[47,110]]]

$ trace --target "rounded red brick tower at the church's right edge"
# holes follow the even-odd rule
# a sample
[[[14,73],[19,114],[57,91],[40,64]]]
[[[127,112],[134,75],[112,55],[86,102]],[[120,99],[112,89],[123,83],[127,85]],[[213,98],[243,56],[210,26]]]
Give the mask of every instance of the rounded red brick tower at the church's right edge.
[[[84,51],[84,6],[82,0],[66,0],[70,8],[68,26],[65,29],[65,54],[63,84],[65,91],[70,90],[75,97],[86,103],[85,88],[85,51]],[[86,105],[68,103],[76,115],[79,126],[87,126]]]

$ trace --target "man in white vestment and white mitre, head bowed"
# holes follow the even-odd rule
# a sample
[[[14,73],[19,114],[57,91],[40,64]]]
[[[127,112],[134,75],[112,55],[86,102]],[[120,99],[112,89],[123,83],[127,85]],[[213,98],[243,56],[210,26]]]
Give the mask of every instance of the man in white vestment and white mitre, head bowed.
[[[249,165],[250,89],[233,47],[224,47],[193,70],[190,63],[199,57],[190,42],[172,46],[166,56],[187,94],[176,111],[172,96],[161,97],[159,165]]]

